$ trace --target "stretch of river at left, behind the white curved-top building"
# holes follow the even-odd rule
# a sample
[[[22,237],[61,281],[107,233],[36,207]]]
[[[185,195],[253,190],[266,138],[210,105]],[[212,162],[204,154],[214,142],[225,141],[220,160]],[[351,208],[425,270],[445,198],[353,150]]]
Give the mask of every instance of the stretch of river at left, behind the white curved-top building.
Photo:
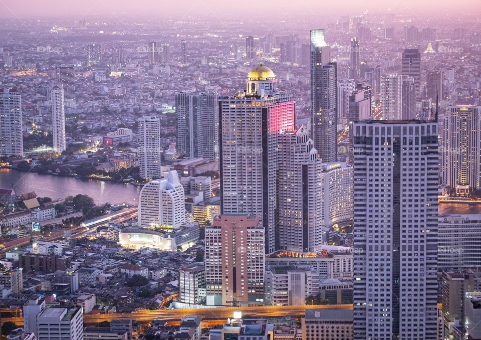
[[[132,184],[116,184],[0,168],[0,188],[10,189],[12,185],[17,195],[34,191],[39,197],[50,197],[55,200],[84,194],[93,198],[96,204],[127,202],[137,205],[140,193],[140,188]]]

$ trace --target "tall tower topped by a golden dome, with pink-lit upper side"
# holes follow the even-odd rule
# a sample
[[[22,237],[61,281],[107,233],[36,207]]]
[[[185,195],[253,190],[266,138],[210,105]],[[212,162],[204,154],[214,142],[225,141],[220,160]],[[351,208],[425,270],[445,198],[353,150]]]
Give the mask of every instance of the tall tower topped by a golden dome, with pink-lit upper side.
[[[247,77],[247,89],[219,98],[221,213],[245,213],[265,228],[266,251],[275,250],[278,144],[294,129],[295,102],[277,89],[274,72],[263,65]]]

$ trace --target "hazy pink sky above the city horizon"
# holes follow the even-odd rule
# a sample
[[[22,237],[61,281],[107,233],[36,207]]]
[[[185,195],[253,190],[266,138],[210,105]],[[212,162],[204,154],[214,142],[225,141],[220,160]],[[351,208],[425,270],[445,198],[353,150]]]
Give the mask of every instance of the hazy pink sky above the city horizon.
[[[310,10],[339,12],[353,10],[387,10],[395,13],[425,10],[469,11],[481,14],[480,0],[0,0],[0,17],[51,17],[90,15],[120,16],[128,13],[202,14],[237,13],[246,17],[265,16],[269,11],[302,13]]]

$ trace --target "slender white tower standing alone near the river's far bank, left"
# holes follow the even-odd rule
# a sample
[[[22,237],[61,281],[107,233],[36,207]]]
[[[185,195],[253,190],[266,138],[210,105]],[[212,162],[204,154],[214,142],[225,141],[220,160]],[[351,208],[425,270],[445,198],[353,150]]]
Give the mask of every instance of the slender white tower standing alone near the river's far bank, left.
[[[62,84],[52,84],[50,91],[54,150],[61,153],[67,148],[65,143],[64,86]]]

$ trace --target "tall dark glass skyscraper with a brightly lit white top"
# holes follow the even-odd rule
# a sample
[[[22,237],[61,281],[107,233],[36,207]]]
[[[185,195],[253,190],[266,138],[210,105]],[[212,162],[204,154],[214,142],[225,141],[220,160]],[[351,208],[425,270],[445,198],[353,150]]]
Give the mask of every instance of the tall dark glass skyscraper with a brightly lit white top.
[[[311,30],[311,123],[323,162],[337,161],[337,64],[323,30]]]

